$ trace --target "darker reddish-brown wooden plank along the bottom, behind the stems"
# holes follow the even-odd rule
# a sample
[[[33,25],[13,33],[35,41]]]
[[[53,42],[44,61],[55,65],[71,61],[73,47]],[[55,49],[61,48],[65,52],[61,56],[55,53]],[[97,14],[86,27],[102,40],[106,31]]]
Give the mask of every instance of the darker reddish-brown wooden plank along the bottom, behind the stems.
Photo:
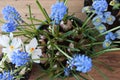
[[[105,64],[112,67],[113,71],[109,71],[103,65],[95,64],[105,75],[109,77],[109,80],[120,80],[120,52],[109,52],[105,53],[104,55],[100,56],[96,59],[97,61],[102,61]],[[34,80],[36,77],[40,76],[42,72],[40,72],[40,67],[37,64],[34,64],[33,70],[31,72],[31,77],[29,80]],[[93,68],[89,74],[95,80],[104,80],[100,74]],[[48,78],[45,80],[49,80]],[[70,78],[69,80],[75,80],[74,78]]]

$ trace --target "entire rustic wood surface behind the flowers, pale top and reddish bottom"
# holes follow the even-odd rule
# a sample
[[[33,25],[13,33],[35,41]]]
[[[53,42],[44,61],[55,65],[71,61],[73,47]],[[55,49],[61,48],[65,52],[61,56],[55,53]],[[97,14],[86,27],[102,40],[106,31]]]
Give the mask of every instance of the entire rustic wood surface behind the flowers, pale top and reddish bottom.
[[[50,7],[56,0],[39,0],[42,6],[50,13]],[[69,0],[69,13],[75,13],[75,15],[82,20],[85,19],[85,14],[81,13],[81,8],[83,7],[84,0]],[[6,5],[14,6],[21,14],[21,16],[25,19],[28,16],[28,7],[27,5],[31,5],[32,14],[38,19],[44,19],[41,12],[38,10],[38,7],[35,3],[35,0],[0,0],[0,10]],[[2,15],[0,13],[0,20],[2,19]],[[26,19],[25,19],[26,20]],[[0,26],[2,24],[0,23]],[[110,78],[110,80],[120,80],[120,52],[110,52],[102,55],[97,60],[103,61],[104,63],[110,65],[114,71],[106,70],[103,65],[98,65],[99,68]],[[31,73],[31,77],[29,80],[35,80],[36,76],[39,76],[41,72],[38,71],[38,66],[34,65],[34,68]],[[90,74],[95,78],[95,80],[104,80],[101,76],[96,72],[96,70],[92,70]],[[49,79],[44,79],[49,80]],[[70,80],[75,80],[71,78]]]

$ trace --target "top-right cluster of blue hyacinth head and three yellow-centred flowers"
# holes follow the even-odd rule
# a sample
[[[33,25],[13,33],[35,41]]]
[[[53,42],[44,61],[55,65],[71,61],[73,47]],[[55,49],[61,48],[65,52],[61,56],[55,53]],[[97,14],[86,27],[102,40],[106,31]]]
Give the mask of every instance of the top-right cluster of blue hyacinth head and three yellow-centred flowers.
[[[92,19],[92,22],[95,28],[100,33],[103,33],[107,30],[104,23],[112,25],[115,21],[115,17],[111,15],[111,12],[107,11],[108,3],[106,0],[95,0],[92,7],[96,12],[96,16]]]

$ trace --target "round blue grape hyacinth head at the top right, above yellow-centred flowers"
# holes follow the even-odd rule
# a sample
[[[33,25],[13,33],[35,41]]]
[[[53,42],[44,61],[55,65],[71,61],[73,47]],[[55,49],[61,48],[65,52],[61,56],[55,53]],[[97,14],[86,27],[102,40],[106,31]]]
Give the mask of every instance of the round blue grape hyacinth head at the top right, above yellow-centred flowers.
[[[108,3],[106,0],[95,0],[92,4],[97,14],[102,14],[108,8]]]

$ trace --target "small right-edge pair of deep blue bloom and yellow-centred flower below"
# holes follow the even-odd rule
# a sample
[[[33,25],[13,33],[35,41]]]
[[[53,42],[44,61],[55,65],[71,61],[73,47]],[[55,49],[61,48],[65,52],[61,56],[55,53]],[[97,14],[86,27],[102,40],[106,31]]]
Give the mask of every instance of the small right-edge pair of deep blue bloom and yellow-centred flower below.
[[[117,35],[113,32],[109,32],[106,36],[105,36],[105,41],[103,42],[103,48],[108,48],[111,43],[112,40],[115,40],[117,37]]]

